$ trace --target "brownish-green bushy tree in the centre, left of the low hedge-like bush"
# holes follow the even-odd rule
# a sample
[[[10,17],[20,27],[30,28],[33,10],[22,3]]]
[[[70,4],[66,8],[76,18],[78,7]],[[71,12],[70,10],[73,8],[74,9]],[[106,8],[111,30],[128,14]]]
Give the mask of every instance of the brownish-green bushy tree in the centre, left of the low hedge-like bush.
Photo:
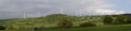
[[[63,18],[58,22],[58,27],[62,27],[62,28],[72,27],[72,21],[68,20],[67,18]]]

